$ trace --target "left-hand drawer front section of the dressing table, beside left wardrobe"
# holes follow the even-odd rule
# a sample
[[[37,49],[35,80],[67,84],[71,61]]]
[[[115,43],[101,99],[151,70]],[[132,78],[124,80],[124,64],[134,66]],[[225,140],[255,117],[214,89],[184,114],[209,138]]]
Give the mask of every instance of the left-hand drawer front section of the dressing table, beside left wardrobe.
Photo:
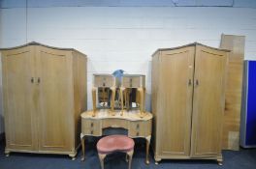
[[[101,121],[91,119],[81,119],[81,132],[84,135],[102,135]]]

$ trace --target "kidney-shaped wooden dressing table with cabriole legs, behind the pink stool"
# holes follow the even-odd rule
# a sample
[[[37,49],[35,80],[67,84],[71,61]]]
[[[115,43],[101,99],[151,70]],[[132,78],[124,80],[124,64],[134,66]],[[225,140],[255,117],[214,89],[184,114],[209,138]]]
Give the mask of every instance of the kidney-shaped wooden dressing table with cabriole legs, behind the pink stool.
[[[81,114],[80,142],[82,148],[81,160],[85,157],[85,136],[102,136],[103,129],[108,127],[122,127],[128,130],[131,138],[142,137],[146,140],[145,163],[149,163],[148,152],[151,139],[152,114],[144,112],[144,117],[140,116],[140,110],[124,110],[121,115],[120,110],[114,110],[114,116],[107,109],[99,109],[95,116],[93,111],[86,111]]]

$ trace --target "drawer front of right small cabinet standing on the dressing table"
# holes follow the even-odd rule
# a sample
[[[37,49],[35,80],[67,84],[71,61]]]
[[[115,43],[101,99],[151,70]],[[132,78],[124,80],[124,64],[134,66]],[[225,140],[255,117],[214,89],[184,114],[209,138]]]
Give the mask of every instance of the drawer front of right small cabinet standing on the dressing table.
[[[122,86],[125,88],[144,88],[144,75],[125,74],[122,77]]]

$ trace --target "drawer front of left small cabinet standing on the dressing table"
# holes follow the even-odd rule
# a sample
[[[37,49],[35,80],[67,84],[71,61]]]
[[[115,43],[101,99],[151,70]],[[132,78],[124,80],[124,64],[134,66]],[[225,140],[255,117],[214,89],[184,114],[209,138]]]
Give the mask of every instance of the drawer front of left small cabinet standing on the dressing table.
[[[112,74],[93,74],[94,87],[110,88],[115,86],[115,77]]]

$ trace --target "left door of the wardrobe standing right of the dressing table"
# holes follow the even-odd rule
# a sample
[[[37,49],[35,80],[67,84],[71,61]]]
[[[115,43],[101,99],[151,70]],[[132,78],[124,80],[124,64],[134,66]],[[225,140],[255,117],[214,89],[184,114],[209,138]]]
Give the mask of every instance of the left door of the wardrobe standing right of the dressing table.
[[[162,157],[190,153],[194,48],[161,51],[157,141]]]

